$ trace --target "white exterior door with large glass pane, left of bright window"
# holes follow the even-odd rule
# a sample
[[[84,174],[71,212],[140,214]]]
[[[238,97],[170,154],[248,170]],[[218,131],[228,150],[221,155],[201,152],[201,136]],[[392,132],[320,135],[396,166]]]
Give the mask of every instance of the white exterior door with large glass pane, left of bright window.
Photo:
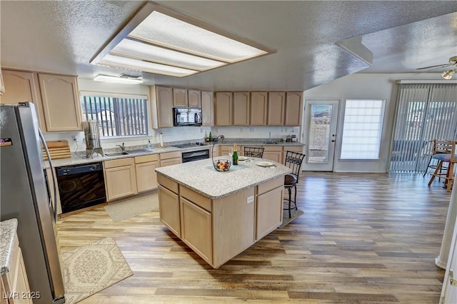
[[[333,171],[339,100],[306,100],[303,171]]]

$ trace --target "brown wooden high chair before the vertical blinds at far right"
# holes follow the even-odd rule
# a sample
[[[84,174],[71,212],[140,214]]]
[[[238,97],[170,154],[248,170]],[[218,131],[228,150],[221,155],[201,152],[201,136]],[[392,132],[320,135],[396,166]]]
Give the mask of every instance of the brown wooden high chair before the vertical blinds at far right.
[[[457,163],[456,145],[457,141],[436,141],[436,151],[439,152],[435,153],[432,158],[438,160],[438,164],[428,181],[428,186],[431,186],[435,177],[438,176],[438,178],[444,178],[445,188],[451,191],[454,181],[454,164]],[[446,172],[441,171],[444,163],[448,164]]]

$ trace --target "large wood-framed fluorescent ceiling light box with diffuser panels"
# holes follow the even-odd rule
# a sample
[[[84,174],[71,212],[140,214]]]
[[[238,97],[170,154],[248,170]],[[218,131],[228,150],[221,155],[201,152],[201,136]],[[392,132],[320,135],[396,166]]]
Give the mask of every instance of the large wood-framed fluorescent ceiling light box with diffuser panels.
[[[148,1],[91,64],[185,77],[275,52]]]

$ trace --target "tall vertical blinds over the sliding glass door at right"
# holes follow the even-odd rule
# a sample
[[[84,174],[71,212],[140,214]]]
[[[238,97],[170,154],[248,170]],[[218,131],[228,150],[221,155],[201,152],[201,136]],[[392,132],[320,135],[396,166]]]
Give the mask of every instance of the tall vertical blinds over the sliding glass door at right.
[[[390,171],[424,172],[433,139],[457,139],[457,84],[400,84],[393,128]]]

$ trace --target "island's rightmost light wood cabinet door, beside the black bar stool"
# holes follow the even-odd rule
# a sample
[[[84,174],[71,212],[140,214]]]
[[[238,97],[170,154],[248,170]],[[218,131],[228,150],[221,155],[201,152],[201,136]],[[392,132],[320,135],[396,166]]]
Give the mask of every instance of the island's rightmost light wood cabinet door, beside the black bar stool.
[[[267,193],[257,196],[256,199],[256,240],[260,240],[271,231],[278,228],[283,218],[283,181],[281,186]]]

